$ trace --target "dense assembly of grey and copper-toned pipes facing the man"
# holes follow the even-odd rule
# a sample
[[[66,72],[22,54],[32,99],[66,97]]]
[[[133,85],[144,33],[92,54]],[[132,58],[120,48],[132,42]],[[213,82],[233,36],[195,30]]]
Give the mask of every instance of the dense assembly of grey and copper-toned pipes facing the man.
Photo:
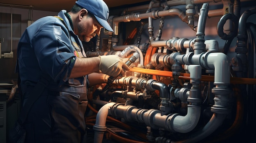
[[[137,57],[125,77],[90,88],[88,139],[253,142],[256,26],[248,19],[255,19],[255,6],[240,0],[152,0],[119,15],[112,10],[114,32],[103,31],[88,57]]]

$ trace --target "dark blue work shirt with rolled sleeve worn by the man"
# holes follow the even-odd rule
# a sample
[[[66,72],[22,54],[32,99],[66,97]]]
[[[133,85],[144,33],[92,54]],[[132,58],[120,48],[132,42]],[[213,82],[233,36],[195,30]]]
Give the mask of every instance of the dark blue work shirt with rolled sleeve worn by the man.
[[[51,77],[47,86],[50,90],[60,91],[63,86],[83,87],[85,90],[86,76],[69,79],[77,56],[75,53],[80,53],[80,57],[86,55],[65,13],[62,10],[58,16],[66,25],[59,18],[46,16],[27,27],[20,38],[16,72],[20,74],[22,86],[35,86],[40,76],[46,74]]]

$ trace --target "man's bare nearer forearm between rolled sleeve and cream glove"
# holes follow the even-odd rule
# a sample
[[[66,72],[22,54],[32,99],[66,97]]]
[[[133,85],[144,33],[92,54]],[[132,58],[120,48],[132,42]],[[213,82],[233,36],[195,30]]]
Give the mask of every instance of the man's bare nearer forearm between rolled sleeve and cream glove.
[[[76,58],[72,68],[70,79],[83,77],[90,73],[99,72],[100,57]]]

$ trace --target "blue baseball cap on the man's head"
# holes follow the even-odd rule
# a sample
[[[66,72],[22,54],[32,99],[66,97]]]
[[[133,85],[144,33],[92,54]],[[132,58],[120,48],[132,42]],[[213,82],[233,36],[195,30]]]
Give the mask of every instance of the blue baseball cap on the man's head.
[[[92,13],[105,29],[114,32],[108,24],[109,9],[103,0],[77,0],[76,4]]]

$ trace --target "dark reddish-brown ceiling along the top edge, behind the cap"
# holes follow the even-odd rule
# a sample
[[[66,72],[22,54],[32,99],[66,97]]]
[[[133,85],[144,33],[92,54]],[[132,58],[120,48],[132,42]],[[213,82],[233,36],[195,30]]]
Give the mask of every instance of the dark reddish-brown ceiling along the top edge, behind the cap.
[[[13,7],[33,6],[33,10],[59,12],[62,9],[69,11],[76,0],[0,0],[0,6],[13,5]],[[104,0],[108,7],[120,7],[126,4],[136,4],[149,0]],[[29,7],[23,7],[29,8]]]

